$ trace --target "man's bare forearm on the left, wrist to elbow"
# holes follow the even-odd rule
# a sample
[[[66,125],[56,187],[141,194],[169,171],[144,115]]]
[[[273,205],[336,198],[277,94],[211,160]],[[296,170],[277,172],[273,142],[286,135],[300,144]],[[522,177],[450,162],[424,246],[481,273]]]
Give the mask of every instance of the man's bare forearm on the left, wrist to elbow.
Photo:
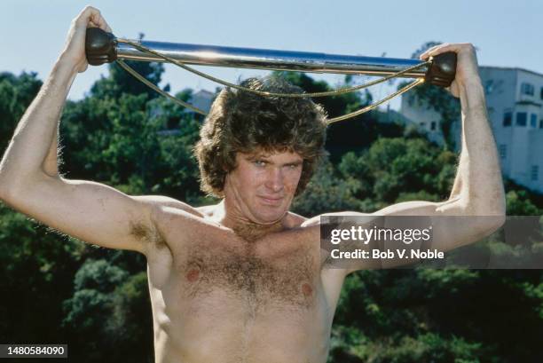
[[[0,184],[3,189],[17,188],[22,181],[32,180],[38,173],[51,175],[57,170],[59,118],[75,75],[75,68],[62,60],[51,70],[17,125],[0,162]]]

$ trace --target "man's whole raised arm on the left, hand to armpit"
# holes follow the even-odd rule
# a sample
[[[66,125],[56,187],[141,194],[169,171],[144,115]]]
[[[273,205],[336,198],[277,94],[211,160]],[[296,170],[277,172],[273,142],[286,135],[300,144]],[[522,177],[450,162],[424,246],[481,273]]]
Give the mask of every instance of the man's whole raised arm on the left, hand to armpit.
[[[66,48],[21,118],[0,162],[0,199],[80,240],[145,253],[147,242],[156,236],[152,198],[130,197],[107,185],[59,176],[59,119],[75,75],[88,67],[84,51],[88,27],[111,32],[92,7],[72,21]]]

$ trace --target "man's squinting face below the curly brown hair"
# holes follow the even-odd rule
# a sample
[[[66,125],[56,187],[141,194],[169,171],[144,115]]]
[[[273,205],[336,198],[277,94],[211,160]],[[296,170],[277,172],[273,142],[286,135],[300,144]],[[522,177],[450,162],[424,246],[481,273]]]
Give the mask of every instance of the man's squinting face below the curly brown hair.
[[[238,153],[236,164],[226,176],[225,198],[253,223],[278,222],[294,198],[303,158],[291,152]]]

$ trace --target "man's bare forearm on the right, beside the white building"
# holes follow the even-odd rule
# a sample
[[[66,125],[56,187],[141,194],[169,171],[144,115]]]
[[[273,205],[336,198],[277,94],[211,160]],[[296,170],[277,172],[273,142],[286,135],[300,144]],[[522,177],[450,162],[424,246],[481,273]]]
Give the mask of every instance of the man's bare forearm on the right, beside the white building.
[[[462,151],[459,165],[460,190],[468,214],[500,215],[505,197],[500,160],[492,136],[479,79],[460,87]]]

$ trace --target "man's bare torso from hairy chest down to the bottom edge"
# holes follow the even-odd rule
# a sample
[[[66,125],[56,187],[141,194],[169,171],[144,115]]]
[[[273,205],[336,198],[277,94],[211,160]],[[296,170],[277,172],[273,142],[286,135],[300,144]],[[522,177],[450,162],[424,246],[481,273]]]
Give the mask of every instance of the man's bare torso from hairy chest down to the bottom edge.
[[[325,362],[333,312],[319,256],[286,246],[198,243],[174,256],[169,282],[151,286],[156,363]]]

